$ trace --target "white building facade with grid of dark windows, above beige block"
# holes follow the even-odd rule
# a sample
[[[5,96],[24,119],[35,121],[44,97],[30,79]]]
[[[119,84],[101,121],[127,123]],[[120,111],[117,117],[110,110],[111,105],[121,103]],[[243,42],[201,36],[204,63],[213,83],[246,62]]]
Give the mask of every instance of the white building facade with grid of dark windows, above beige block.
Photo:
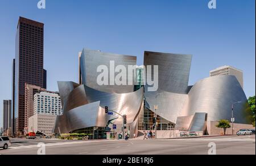
[[[40,92],[34,95],[34,114],[63,114],[59,93]]]

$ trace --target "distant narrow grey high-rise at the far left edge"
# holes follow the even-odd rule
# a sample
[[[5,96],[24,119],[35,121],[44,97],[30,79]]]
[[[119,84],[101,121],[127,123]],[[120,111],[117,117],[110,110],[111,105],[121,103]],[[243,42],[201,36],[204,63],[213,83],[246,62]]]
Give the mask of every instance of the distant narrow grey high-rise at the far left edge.
[[[11,100],[3,100],[3,132],[11,128]]]

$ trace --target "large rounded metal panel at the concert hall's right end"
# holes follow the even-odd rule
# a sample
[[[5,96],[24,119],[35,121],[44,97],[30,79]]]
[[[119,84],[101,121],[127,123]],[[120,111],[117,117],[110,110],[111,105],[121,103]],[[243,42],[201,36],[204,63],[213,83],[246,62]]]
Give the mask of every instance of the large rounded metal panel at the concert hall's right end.
[[[232,103],[242,101],[234,107],[237,123],[246,124],[245,104],[247,99],[235,76],[213,76],[200,80],[188,93],[184,114],[208,113],[208,121],[230,120]]]

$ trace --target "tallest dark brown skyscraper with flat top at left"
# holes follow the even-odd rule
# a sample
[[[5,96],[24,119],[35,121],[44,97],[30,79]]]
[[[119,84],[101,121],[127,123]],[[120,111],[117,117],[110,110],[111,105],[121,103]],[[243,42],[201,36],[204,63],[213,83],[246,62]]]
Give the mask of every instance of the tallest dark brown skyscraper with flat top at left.
[[[44,24],[19,18],[16,31],[14,74],[15,132],[22,134],[25,126],[25,83],[44,86]]]

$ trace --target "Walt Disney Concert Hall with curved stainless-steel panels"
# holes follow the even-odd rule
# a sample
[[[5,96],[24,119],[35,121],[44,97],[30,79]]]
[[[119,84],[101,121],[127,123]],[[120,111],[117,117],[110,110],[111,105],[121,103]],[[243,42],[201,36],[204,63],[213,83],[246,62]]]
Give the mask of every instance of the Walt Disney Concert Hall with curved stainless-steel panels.
[[[247,99],[236,76],[212,76],[188,86],[190,54],[144,52],[144,66],[158,66],[158,71],[151,72],[152,79],[158,75],[157,91],[148,91],[150,86],[144,80],[146,68],[143,67],[130,73],[133,85],[98,85],[97,67],[105,65],[109,69],[110,61],[127,68],[137,65],[134,56],[82,50],[80,83],[58,82],[63,115],[57,117],[55,133],[87,133],[91,139],[106,138],[106,133],[113,129],[114,133],[123,130],[123,118],[119,114],[125,114],[125,131],[131,136],[155,129],[207,134],[208,121],[230,120],[232,104],[236,101],[241,101],[234,111],[236,122],[247,124]],[[105,113],[105,107],[118,114]]]

